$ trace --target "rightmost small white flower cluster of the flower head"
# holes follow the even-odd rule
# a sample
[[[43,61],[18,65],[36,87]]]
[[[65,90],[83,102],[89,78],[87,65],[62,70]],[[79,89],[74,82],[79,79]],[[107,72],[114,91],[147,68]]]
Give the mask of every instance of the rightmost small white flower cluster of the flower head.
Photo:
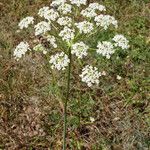
[[[115,42],[116,47],[121,47],[122,49],[128,49],[129,46],[129,41],[121,34],[116,35],[113,38],[113,41]]]

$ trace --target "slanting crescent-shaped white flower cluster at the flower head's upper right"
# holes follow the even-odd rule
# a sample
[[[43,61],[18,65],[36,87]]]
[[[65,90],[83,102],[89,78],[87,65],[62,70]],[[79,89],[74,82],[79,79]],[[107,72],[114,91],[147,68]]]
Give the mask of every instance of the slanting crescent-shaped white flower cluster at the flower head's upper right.
[[[81,14],[84,17],[92,18],[92,17],[97,16],[97,13],[96,13],[97,10],[106,11],[106,8],[105,6],[100,5],[98,3],[90,3],[90,5],[85,10],[81,11]]]

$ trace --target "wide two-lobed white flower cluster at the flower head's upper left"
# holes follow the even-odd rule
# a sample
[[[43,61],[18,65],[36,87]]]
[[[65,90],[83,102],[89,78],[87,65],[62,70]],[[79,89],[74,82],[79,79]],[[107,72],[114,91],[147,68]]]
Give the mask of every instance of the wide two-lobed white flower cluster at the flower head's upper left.
[[[43,7],[39,10],[38,15],[40,17],[44,17],[47,20],[52,20],[55,21],[58,17],[59,14],[57,11],[55,11],[54,9],[49,9],[49,7]]]

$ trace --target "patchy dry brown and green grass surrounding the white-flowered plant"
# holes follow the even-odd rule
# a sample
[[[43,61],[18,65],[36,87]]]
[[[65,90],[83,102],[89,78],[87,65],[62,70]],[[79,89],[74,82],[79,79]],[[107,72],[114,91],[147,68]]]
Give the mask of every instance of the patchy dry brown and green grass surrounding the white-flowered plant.
[[[131,48],[120,59],[100,64],[109,74],[101,79],[99,89],[89,90],[72,81],[68,149],[148,150],[150,3],[103,2],[119,20],[118,32],[126,33]],[[33,38],[27,31],[16,32],[20,18],[46,4],[49,0],[0,0],[0,149],[60,150],[62,146],[65,76],[55,74],[59,82],[54,86],[42,56],[32,55],[20,62],[12,58],[19,41]],[[73,74],[76,79],[76,65]],[[117,74],[122,80],[116,80]]]

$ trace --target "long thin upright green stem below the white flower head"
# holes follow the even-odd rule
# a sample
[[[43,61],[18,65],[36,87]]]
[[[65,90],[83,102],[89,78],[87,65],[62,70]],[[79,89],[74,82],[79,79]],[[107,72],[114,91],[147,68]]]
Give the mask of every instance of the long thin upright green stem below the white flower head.
[[[69,63],[69,66],[68,66],[67,93],[66,93],[65,106],[64,106],[63,150],[66,150],[67,103],[68,103],[69,95],[70,95],[70,76],[71,76],[71,48],[69,48],[69,59],[70,59],[70,63]]]

